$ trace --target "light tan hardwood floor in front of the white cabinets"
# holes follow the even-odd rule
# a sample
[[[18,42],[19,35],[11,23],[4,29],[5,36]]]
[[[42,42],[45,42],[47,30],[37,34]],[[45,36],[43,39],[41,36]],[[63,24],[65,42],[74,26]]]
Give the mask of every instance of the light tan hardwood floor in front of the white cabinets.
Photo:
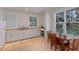
[[[7,43],[2,51],[51,51],[49,43],[42,37]]]

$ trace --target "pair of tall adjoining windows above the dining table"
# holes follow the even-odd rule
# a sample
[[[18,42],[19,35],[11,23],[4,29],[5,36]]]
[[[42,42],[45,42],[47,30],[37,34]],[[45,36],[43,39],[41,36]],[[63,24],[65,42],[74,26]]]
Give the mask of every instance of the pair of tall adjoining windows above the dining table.
[[[64,16],[64,13],[66,13],[66,16]],[[64,31],[63,28],[65,28],[64,30],[68,35],[79,35],[79,8],[56,14],[56,32],[62,34]]]

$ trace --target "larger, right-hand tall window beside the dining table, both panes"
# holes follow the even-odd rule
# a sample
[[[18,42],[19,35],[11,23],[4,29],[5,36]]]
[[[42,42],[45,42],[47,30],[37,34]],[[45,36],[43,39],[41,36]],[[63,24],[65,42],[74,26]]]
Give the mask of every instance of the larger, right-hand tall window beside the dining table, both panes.
[[[79,35],[79,8],[66,11],[67,34]]]

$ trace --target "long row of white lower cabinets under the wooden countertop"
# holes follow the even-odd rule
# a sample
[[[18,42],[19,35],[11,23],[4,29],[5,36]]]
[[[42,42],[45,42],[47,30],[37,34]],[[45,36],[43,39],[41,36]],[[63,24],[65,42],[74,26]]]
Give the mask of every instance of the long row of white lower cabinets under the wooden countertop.
[[[20,30],[20,31],[13,31],[13,32],[6,32],[6,42],[31,38],[40,36],[39,29],[29,29],[29,30]]]

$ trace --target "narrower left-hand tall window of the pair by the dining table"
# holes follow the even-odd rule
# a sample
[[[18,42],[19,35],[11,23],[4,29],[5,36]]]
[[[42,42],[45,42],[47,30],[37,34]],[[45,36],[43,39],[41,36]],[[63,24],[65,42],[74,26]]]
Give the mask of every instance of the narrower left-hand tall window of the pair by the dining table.
[[[59,34],[63,33],[63,22],[64,22],[64,12],[56,14],[56,32]]]

